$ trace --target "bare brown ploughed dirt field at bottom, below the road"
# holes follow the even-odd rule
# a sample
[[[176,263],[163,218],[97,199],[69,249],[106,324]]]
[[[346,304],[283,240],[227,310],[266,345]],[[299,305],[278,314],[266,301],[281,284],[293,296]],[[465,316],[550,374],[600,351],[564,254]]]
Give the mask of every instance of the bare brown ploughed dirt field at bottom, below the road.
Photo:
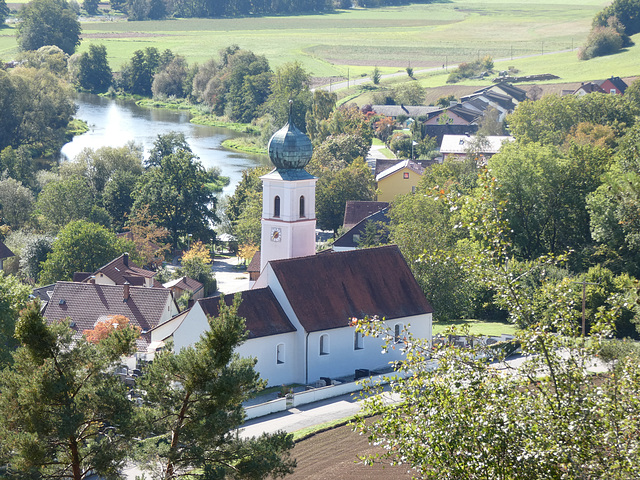
[[[288,480],[408,480],[411,475],[406,467],[382,465],[366,466],[356,455],[375,453],[365,436],[354,432],[350,426],[334,428],[318,433],[297,443],[293,457],[298,460],[295,473]]]

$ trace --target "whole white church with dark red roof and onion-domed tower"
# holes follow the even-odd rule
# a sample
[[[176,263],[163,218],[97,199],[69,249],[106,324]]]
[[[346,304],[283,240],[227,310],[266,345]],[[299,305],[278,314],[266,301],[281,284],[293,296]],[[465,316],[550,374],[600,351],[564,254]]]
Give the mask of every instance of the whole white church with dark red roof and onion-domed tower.
[[[262,177],[260,274],[242,292],[238,313],[246,319],[248,339],[238,353],[257,358],[256,370],[268,385],[306,385],[402,359],[401,348],[383,352],[381,339],[356,332],[352,318],[384,318],[398,343],[405,328],[431,341],[433,309],[397,246],[316,253],[317,179],[305,170],[313,148],[291,117],[268,150],[275,168]],[[176,350],[192,345],[219,301],[199,299],[152,330],[152,341],[173,338]]]

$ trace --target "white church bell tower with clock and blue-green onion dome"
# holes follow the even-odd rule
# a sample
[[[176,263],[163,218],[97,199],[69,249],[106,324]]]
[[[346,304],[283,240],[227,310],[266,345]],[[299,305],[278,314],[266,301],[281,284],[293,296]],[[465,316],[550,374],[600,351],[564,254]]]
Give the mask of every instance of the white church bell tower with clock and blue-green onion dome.
[[[268,150],[276,168],[261,177],[260,272],[271,260],[314,255],[316,250],[317,178],[304,169],[313,147],[293,124],[291,110],[287,124],[269,140]]]

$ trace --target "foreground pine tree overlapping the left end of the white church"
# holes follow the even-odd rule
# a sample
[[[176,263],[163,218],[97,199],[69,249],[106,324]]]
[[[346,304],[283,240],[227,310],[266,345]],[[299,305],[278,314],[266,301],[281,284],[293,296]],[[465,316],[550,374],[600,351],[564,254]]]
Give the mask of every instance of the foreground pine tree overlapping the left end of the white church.
[[[235,348],[246,338],[238,316],[240,295],[209,319],[209,330],[193,346],[156,355],[140,381],[150,432],[143,451],[148,466],[161,462],[161,478],[264,479],[291,473],[293,446],[285,432],[241,440],[242,402],[260,385],[255,360],[239,358]],[[174,385],[180,384],[180,388]]]

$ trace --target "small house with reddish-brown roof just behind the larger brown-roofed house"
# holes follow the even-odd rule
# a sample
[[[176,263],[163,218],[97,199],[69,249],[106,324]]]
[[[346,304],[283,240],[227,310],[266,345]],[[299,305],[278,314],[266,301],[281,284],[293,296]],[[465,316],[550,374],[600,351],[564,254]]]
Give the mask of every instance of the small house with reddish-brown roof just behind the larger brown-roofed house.
[[[123,253],[93,273],[74,273],[73,281],[93,282],[99,285],[124,285],[128,283],[140,287],[162,288],[162,284],[153,278],[155,276],[156,272],[140,268],[129,258],[128,253]]]

